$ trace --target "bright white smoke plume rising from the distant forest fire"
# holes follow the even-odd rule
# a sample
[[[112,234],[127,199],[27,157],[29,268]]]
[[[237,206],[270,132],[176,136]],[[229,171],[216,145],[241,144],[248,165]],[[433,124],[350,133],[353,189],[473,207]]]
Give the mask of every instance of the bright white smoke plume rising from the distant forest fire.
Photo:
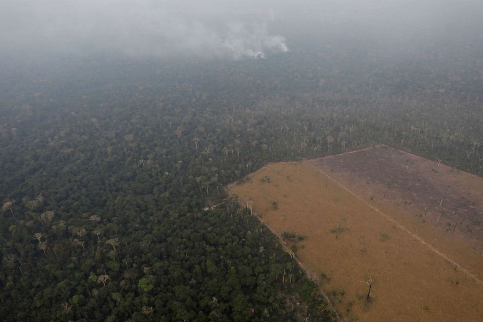
[[[166,23],[169,21],[169,23]],[[128,55],[168,55],[265,58],[267,54],[288,51],[285,38],[271,35],[265,23],[230,22],[221,28],[208,27],[201,21],[162,19],[154,22],[137,38],[128,34],[111,46],[121,46]]]

